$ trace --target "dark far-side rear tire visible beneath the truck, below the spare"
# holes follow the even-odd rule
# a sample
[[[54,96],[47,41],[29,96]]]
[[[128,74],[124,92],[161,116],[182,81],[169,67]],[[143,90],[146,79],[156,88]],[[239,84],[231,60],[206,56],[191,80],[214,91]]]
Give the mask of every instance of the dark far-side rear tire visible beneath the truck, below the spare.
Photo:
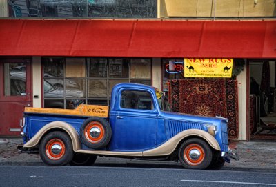
[[[97,155],[74,153],[73,159],[70,161],[71,166],[92,166],[97,159]]]

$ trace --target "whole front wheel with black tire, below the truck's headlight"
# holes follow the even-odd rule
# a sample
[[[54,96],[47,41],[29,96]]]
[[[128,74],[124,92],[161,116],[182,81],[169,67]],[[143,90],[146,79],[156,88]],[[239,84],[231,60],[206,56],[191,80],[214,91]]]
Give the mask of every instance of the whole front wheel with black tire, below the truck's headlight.
[[[212,150],[201,139],[188,139],[181,144],[178,159],[186,169],[204,170],[212,161]]]

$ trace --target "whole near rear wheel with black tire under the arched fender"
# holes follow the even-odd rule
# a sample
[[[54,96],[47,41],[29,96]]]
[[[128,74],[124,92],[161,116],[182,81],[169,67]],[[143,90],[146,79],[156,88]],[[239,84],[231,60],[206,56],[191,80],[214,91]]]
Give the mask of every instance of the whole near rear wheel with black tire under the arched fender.
[[[45,164],[61,166],[68,164],[73,157],[72,142],[65,132],[50,132],[43,137],[39,155]]]

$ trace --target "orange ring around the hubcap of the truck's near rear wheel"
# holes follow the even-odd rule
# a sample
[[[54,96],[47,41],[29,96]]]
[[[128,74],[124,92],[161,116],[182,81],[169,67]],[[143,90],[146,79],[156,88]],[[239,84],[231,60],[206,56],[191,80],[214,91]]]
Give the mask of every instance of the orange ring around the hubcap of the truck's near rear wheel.
[[[59,154],[55,154],[54,152],[52,152],[52,146],[54,146],[54,145],[61,147],[61,152],[59,152]],[[61,139],[51,139],[46,144],[45,149],[46,149],[47,157],[52,160],[61,159],[61,157],[63,157],[63,155],[65,154],[65,151],[66,151],[66,147],[65,147],[63,141],[61,141]]]

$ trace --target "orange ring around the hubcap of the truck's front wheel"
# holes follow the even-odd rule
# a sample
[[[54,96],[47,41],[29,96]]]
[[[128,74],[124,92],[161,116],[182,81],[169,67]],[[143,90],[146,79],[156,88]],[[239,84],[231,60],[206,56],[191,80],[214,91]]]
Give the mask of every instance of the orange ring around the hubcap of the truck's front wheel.
[[[200,156],[198,159],[195,160],[190,157],[191,150],[199,151]],[[204,149],[201,146],[199,146],[199,144],[190,144],[186,146],[186,148],[184,149],[184,160],[190,165],[197,166],[201,164],[204,158],[205,158]]]

